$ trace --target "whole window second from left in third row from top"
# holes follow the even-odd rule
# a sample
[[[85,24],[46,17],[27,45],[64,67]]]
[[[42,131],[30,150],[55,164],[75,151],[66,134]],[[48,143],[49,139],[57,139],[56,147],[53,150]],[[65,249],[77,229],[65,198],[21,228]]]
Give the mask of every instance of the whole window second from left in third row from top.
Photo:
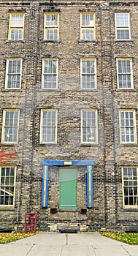
[[[57,110],[41,110],[40,143],[57,143]]]

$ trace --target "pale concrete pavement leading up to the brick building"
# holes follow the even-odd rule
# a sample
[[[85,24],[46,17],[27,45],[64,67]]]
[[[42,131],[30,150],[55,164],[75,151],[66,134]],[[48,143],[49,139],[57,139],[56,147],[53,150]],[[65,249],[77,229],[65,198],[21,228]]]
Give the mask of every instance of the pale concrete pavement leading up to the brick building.
[[[9,244],[0,244],[1,256],[138,256],[131,246],[99,233],[38,233]]]

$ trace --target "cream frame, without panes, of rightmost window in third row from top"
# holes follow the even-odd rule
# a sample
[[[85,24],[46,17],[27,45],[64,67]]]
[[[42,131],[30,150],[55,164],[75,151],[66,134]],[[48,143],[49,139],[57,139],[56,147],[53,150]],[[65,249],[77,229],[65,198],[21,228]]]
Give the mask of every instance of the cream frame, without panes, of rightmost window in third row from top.
[[[121,121],[123,123],[123,119],[121,118],[121,113],[129,113],[128,118],[124,118],[126,124],[121,124]],[[133,118],[130,118],[130,113],[133,113]],[[130,143],[137,143],[137,129],[136,129],[136,111],[135,110],[127,110],[127,109],[122,109],[119,111],[119,119],[120,119],[120,143],[121,144],[130,144]],[[131,124],[131,119],[133,120],[133,125]],[[127,121],[128,120],[128,121]],[[127,124],[128,123],[128,124]],[[131,132],[130,129],[134,129],[134,141],[131,141]],[[121,130],[124,130],[124,132],[121,132]],[[128,132],[129,131],[129,132]],[[122,140],[122,136],[124,136],[125,140]],[[129,141],[126,141],[129,137]]]

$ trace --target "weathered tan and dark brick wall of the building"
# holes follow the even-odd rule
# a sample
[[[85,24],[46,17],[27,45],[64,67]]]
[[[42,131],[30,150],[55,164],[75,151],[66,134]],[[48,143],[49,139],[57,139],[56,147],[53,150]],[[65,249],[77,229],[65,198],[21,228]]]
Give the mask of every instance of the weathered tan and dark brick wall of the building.
[[[25,13],[24,36],[8,40],[9,14]],[[44,39],[44,13],[59,13],[59,39]],[[80,13],[94,12],[96,39],[80,39]],[[115,39],[115,12],[129,12],[131,39]],[[0,205],[0,229],[23,230],[26,211],[37,211],[39,230],[80,225],[81,230],[138,230],[138,205],[123,207],[122,166],[138,167],[137,143],[121,144],[119,110],[136,110],[138,131],[137,1],[23,0],[0,2],[0,138],[3,112],[19,109],[18,143],[0,144],[18,157],[1,166],[16,166],[15,205]],[[7,59],[23,59],[21,89],[5,89]],[[42,89],[42,59],[58,59],[58,89]],[[80,59],[96,59],[97,89],[80,87]],[[134,89],[118,89],[117,58],[131,58]],[[40,143],[42,109],[58,110],[57,143]],[[98,143],[80,142],[81,110],[96,109]],[[138,139],[138,132],[137,132]],[[59,209],[59,166],[49,167],[48,206],[41,206],[42,160],[93,160],[93,207],[87,214],[86,166],[77,169],[77,208]],[[63,167],[63,166],[62,166]],[[66,167],[66,166],[65,166]],[[69,166],[67,166],[69,167]],[[56,214],[50,208],[57,208]]]

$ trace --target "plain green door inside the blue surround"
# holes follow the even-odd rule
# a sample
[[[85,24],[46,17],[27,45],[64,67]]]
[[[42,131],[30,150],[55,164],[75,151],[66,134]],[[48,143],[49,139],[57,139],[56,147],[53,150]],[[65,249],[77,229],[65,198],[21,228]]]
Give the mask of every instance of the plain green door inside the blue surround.
[[[77,171],[73,168],[61,168],[59,208],[77,208]]]

